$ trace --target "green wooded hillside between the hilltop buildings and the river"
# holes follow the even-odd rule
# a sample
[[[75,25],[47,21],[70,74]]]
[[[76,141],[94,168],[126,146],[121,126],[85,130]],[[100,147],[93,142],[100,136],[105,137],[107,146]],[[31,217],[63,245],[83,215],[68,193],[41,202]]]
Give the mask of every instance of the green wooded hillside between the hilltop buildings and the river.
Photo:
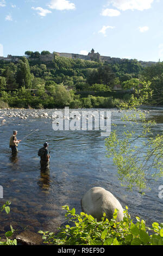
[[[108,64],[55,55],[53,61],[41,62],[40,53],[26,53],[28,59],[15,63],[0,60],[0,107],[120,107],[133,95],[139,98],[146,84],[151,84],[155,104],[162,104],[163,63],[143,68],[135,59]]]

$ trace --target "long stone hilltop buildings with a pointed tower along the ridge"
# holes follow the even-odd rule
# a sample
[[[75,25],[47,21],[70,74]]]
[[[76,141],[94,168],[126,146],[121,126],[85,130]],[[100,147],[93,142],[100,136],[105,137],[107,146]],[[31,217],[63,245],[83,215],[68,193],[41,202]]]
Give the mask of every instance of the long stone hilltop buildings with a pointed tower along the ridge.
[[[71,58],[71,59],[83,59],[83,60],[90,60],[90,61],[96,61],[96,62],[107,62],[108,64],[121,64],[123,63],[126,59],[121,59],[121,58],[111,58],[109,56],[101,56],[98,52],[95,53],[95,50],[92,48],[91,52],[89,52],[87,55],[83,54],[76,54],[76,53],[60,53],[60,52],[53,52],[50,54],[46,55],[40,55],[39,58],[30,58],[31,60],[37,60],[39,59],[42,62],[51,62],[54,59],[54,55],[60,56],[60,57],[66,57],[66,58]],[[7,62],[17,62],[18,59],[20,59],[22,56],[12,56],[8,54],[8,57],[0,57],[0,60],[4,60]],[[29,58],[29,56],[24,56],[26,58]],[[151,66],[153,64],[156,64],[156,62],[143,62],[139,61],[139,63],[143,66]]]

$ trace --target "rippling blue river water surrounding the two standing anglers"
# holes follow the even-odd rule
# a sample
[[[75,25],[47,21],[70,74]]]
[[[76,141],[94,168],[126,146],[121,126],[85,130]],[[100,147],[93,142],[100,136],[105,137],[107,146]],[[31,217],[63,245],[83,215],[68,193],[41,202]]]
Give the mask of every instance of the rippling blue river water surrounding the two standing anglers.
[[[118,109],[110,111],[111,122],[117,124],[116,129],[121,135],[123,113]],[[46,109],[45,112],[53,114],[54,110]],[[162,130],[162,114],[163,108],[150,108],[148,113],[148,118],[157,121],[153,127],[154,135]],[[0,236],[10,229],[10,223],[18,231],[55,231],[65,222],[65,212],[61,206],[69,205],[79,213],[80,199],[96,186],[114,194],[123,208],[127,205],[133,219],[140,216],[149,225],[153,221],[162,222],[163,198],[160,199],[158,194],[163,179],[154,181],[148,178],[147,185],[151,191],[147,191],[145,196],[136,189],[130,192],[122,187],[116,176],[116,167],[105,156],[105,137],[100,136],[100,131],[54,131],[52,119],[45,118],[6,120],[0,126],[0,185],[3,186],[0,205],[10,200],[11,211],[9,215],[0,215]],[[140,125],[134,129],[139,134]],[[18,146],[17,157],[12,157],[9,149],[13,130],[18,131],[17,139],[25,137]],[[40,159],[37,156],[37,151],[45,141],[49,143],[51,153],[49,175],[40,172]]]

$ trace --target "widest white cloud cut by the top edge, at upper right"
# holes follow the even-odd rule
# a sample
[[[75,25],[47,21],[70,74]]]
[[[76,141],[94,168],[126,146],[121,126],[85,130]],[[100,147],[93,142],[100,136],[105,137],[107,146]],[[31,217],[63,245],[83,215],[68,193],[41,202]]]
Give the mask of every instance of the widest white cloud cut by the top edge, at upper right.
[[[151,8],[151,4],[154,0],[110,0],[114,7],[119,10],[145,10]]]

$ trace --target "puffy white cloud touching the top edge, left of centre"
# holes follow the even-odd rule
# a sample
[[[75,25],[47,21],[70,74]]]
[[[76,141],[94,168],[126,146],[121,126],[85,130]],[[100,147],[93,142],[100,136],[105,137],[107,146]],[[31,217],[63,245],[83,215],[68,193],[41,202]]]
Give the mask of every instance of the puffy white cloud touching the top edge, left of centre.
[[[68,0],[51,0],[48,7],[56,10],[73,10],[76,8],[74,3],[70,3]]]

